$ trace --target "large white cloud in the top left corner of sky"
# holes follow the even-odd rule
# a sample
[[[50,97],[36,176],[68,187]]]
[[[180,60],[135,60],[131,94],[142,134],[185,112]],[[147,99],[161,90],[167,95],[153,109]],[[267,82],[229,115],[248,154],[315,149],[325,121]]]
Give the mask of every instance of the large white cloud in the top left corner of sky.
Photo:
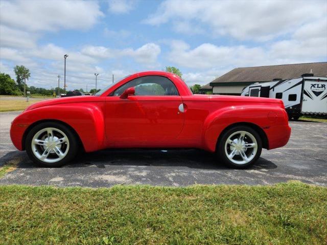
[[[104,16],[93,1],[1,1],[0,22],[27,31],[86,30]]]

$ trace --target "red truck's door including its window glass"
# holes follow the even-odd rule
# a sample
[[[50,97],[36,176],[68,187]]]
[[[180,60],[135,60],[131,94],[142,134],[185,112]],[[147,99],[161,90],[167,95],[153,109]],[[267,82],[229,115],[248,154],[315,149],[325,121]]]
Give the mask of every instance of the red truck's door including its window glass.
[[[134,87],[135,95],[121,99],[129,87]],[[145,76],[125,83],[106,98],[108,142],[142,146],[176,139],[184,123],[182,103],[176,86],[166,77]]]

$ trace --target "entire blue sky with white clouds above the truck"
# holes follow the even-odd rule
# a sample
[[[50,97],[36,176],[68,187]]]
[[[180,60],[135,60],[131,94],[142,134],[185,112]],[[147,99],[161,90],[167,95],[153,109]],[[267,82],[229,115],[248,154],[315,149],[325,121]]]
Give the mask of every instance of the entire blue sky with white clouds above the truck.
[[[28,85],[99,87],[173,65],[189,85],[244,66],[327,60],[327,1],[0,2],[0,70]]]

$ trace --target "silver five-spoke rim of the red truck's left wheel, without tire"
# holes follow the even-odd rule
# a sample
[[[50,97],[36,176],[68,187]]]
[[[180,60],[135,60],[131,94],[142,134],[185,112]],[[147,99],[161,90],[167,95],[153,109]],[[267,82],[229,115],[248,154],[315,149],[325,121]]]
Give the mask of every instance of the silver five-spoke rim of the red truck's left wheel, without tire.
[[[35,133],[31,142],[37,159],[45,163],[56,163],[68,153],[69,140],[65,133],[54,127],[46,127]]]

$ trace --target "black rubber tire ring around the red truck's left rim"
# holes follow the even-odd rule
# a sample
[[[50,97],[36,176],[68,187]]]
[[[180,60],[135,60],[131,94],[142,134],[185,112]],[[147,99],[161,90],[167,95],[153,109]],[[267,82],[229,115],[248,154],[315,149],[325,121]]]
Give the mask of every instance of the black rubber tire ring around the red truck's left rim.
[[[61,130],[62,132],[65,133],[65,135],[67,136],[68,140],[69,140],[69,149],[67,154],[65,155],[65,157],[63,159],[61,159],[58,162],[55,163],[46,163],[43,162],[41,160],[39,160],[35,154],[33,153],[32,150],[32,139],[35,136],[35,134],[42,130],[43,128],[47,128],[47,127],[53,127],[56,129]],[[66,163],[72,161],[74,159],[74,157],[76,156],[77,152],[78,152],[78,141],[74,135],[74,133],[72,132],[71,129],[69,129],[67,126],[61,124],[61,123],[57,123],[57,122],[44,122],[44,123],[40,123],[37,124],[35,127],[33,127],[29,132],[28,135],[26,137],[26,141],[25,141],[25,149],[27,154],[29,155],[29,158],[38,166],[41,167],[61,167],[63,165],[65,165]]]

